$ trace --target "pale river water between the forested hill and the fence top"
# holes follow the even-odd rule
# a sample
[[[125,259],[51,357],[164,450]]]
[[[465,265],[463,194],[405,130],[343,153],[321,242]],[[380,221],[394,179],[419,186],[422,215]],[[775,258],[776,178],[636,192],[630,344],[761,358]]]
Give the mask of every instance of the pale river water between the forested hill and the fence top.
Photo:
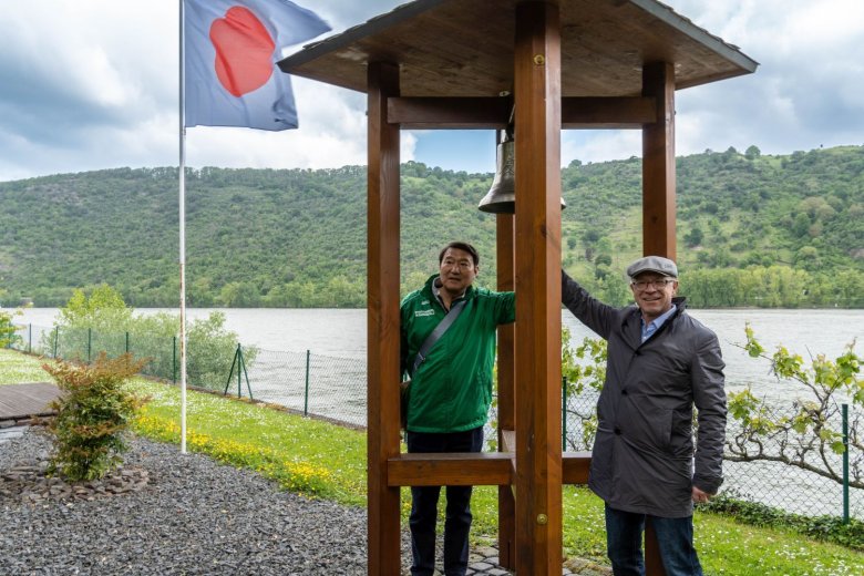
[[[176,309],[138,309],[137,313]],[[226,327],[236,332],[244,344],[265,350],[305,352],[364,358],[367,348],[367,313],[364,309],[286,309],[286,308],[191,308],[189,319],[205,318],[212,311],[225,313]],[[24,311],[16,322],[32,322],[50,327],[56,308],[34,308]],[[750,322],[757,339],[771,353],[778,346],[796,351],[806,360],[809,354],[824,353],[836,358],[846,344],[857,340],[855,350],[864,349],[864,310],[689,310],[702,323],[717,332],[727,363],[727,387],[731,391],[752,384],[754,393],[769,399],[789,397],[789,385],[781,385],[769,373],[769,364],[754,360],[739,346],[745,341],[744,325]],[[594,336],[568,311],[562,311],[562,322],[569,328],[572,342]]]

